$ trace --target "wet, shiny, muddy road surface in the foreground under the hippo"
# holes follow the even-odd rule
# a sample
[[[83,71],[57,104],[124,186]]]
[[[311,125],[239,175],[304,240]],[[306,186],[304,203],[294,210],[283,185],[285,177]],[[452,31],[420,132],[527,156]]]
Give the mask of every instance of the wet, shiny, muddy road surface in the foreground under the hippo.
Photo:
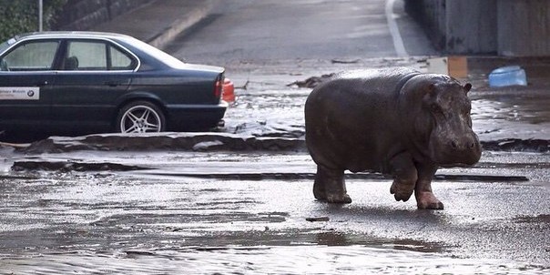
[[[548,154],[485,152],[476,168],[443,169],[440,175],[530,178],[437,180],[443,211],[395,202],[390,180],[368,177],[348,180],[350,205],[317,202],[304,176],[314,166],[300,153],[84,151],[40,158],[107,159],[145,169],[35,169],[1,179],[4,274],[544,274],[550,268]],[[235,178],[235,171],[245,176]]]

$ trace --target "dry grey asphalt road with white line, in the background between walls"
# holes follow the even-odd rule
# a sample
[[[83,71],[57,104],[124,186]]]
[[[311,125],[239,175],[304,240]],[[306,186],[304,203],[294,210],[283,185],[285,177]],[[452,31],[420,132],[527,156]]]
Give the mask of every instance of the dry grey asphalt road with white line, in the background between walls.
[[[433,55],[423,31],[396,1],[221,1],[214,13],[168,46],[188,62],[229,65],[280,59],[398,56],[390,22],[410,55]]]

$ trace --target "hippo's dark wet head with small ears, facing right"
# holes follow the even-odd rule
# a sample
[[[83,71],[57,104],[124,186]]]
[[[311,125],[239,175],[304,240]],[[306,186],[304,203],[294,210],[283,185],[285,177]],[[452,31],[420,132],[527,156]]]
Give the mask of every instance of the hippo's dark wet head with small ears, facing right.
[[[471,88],[443,75],[415,76],[402,88],[402,127],[417,156],[443,167],[479,161],[481,145],[467,96]]]

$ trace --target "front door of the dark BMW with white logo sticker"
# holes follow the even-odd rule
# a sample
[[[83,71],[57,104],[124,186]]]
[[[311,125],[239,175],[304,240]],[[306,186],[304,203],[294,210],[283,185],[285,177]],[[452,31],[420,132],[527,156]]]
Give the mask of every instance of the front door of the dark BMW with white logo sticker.
[[[59,40],[25,40],[0,56],[0,130],[49,127],[59,46]]]

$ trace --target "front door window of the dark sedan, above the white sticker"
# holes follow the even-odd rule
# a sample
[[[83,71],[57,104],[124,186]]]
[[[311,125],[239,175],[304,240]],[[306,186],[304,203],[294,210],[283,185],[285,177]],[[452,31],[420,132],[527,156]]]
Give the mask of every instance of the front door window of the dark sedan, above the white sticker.
[[[3,70],[46,71],[51,70],[56,58],[57,41],[30,41],[16,46],[3,58]]]

